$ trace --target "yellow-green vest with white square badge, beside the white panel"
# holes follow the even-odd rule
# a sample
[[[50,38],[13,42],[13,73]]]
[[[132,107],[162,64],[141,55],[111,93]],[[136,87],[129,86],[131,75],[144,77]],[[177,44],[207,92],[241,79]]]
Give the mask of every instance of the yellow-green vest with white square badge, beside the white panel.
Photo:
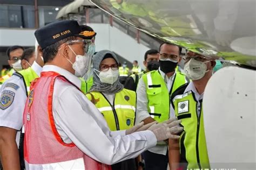
[[[175,114],[182,120],[181,125],[184,127],[180,135],[181,162],[187,162],[188,169],[210,168],[202,104],[202,101],[194,99],[192,91],[173,98]]]

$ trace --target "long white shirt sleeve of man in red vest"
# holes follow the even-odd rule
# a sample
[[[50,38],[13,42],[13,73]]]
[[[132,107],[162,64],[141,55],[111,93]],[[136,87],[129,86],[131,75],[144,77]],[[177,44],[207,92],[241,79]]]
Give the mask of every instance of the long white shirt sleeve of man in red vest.
[[[63,139],[69,138],[81,151],[104,164],[135,158],[157,143],[151,131],[126,136],[124,132],[111,132],[95,105],[73,86],[59,94],[53,92],[53,117]]]

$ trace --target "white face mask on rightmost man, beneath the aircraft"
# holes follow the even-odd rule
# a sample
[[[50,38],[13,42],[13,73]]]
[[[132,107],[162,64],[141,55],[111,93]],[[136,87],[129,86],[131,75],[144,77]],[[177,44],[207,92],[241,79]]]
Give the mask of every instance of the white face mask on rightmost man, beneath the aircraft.
[[[206,61],[210,62],[210,61]],[[209,70],[207,70],[206,62],[197,61],[195,59],[190,59],[187,63],[185,63],[184,70],[186,76],[190,80],[199,80],[205,76]]]

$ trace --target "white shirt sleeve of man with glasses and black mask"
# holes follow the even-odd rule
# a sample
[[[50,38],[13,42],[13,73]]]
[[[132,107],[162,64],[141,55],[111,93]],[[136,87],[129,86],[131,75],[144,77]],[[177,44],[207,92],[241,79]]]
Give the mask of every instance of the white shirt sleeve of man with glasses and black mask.
[[[147,111],[147,94],[146,94],[146,84],[143,79],[139,80],[137,88],[137,113],[136,113],[136,124],[139,124],[147,117],[150,117],[149,111]]]

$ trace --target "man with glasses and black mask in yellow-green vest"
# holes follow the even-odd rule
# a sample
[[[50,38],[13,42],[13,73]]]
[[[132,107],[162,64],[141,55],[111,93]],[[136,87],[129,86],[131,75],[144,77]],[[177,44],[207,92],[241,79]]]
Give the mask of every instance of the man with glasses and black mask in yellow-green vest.
[[[181,60],[181,48],[164,42],[159,47],[159,69],[146,73],[139,80],[137,88],[136,123],[145,124],[169,119],[170,95],[187,82],[186,76],[176,72]],[[143,153],[146,169],[163,169],[168,165],[168,146],[162,141],[156,147]]]

